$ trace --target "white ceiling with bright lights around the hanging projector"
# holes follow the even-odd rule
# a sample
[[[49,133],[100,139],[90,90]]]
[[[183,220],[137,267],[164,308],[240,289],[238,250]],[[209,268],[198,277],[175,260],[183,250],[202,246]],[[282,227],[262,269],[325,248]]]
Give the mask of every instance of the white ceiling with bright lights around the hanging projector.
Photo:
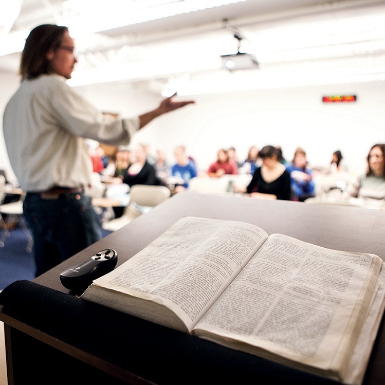
[[[16,73],[29,30],[54,23],[70,27],[79,50],[74,85],[119,80],[193,94],[385,80],[385,0],[244,0],[187,12],[198,3],[209,0],[12,0],[14,10],[0,0],[0,15],[8,12],[0,16],[0,69]],[[134,20],[155,9],[179,14]],[[219,57],[238,49],[234,33],[258,68],[221,68]],[[11,41],[17,52],[7,51]]]

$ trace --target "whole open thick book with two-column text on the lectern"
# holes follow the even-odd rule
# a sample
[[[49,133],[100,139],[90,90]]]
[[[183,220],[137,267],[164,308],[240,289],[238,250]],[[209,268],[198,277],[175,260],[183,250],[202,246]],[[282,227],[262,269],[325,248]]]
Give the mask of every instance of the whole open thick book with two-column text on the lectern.
[[[83,299],[360,384],[385,306],[379,256],[238,221],[184,217]]]

